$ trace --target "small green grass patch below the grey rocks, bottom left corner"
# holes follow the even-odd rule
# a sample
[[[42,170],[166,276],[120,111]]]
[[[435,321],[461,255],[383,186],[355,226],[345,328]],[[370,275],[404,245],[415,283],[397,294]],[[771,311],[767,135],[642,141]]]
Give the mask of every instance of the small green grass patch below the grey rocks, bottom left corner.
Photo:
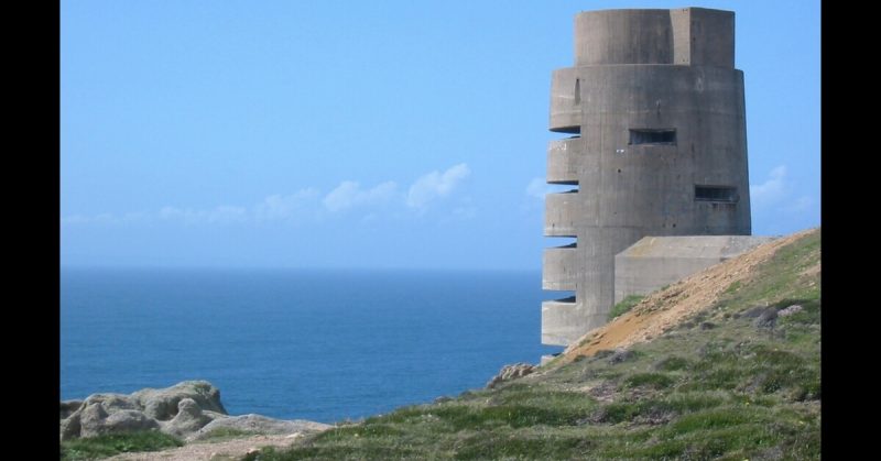
[[[115,433],[62,442],[62,460],[94,460],[130,451],[159,451],[184,443],[157,430]]]

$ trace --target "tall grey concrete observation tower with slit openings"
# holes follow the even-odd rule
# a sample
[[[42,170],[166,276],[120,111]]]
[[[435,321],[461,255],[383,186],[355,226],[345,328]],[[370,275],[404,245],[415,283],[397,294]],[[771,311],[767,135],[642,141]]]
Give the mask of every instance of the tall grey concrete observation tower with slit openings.
[[[749,235],[743,73],[735,14],[685,8],[575,17],[575,66],[554,70],[542,342],[606,323],[616,254],[646,235]]]

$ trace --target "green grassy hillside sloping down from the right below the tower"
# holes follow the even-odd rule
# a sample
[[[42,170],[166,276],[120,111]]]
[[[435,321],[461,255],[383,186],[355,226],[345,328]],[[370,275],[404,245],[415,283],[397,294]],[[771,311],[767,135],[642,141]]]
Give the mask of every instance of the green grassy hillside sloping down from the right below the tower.
[[[648,342],[574,348],[496,389],[248,459],[818,459],[820,231],[766,253]],[[699,289],[689,279],[622,318],[675,308],[663,300]]]

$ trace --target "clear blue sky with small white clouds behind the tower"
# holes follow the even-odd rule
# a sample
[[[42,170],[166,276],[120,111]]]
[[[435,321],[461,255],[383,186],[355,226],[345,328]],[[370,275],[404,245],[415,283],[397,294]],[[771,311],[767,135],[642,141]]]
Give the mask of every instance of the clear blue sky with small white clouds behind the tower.
[[[736,12],[755,234],[818,226],[819,1],[61,3],[61,263],[541,267],[573,18]]]

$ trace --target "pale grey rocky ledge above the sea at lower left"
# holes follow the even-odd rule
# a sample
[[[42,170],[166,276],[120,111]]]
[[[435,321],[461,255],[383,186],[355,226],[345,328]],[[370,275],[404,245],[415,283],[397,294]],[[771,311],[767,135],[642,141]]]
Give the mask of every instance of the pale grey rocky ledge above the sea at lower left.
[[[333,426],[304,419],[273,419],[260,415],[229,416],[220,391],[207,381],[185,381],[163,389],[133,394],[93,394],[85,400],[61,403],[61,440],[104,433],[160,430],[186,441],[226,432],[308,435]]]

